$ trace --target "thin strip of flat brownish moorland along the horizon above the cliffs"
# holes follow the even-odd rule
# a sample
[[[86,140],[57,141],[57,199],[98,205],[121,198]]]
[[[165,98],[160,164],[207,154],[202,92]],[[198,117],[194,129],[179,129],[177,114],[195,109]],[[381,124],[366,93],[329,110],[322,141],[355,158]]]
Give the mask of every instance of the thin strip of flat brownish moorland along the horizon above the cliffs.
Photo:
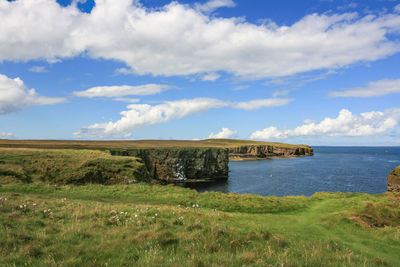
[[[137,140],[137,141],[68,141],[68,140],[2,140],[0,147],[80,148],[80,149],[133,149],[133,148],[229,148],[245,145],[270,145],[275,147],[309,147],[284,143],[248,141],[238,139],[187,140]]]

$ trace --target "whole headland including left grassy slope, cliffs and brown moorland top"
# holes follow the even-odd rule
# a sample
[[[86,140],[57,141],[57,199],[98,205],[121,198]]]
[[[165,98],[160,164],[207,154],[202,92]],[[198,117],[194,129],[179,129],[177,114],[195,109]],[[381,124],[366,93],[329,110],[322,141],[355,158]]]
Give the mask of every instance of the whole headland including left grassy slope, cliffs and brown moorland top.
[[[29,149],[30,152],[27,152]],[[33,155],[34,151],[38,155]],[[202,141],[0,140],[0,152],[3,153],[0,157],[4,162],[4,166],[0,166],[0,178],[6,175],[29,182],[31,176],[34,175],[40,177],[42,181],[57,184],[88,182],[116,184],[149,179],[167,182],[226,180],[229,159],[262,159],[313,154],[312,148],[304,145],[232,139]],[[18,156],[16,154],[18,152],[22,154]],[[109,152],[112,155],[139,157],[145,168],[140,166],[141,162],[138,159],[135,161],[133,157],[112,158]],[[46,153],[48,155],[45,155]],[[73,153],[76,156],[72,156]],[[91,158],[93,155],[98,158]],[[129,164],[126,161],[129,161]],[[130,164],[133,165],[130,166]],[[39,168],[36,165],[42,167]],[[126,169],[124,166],[127,166]],[[1,171],[1,168],[5,170]],[[76,178],[73,178],[74,176]],[[2,182],[1,179],[0,182]]]

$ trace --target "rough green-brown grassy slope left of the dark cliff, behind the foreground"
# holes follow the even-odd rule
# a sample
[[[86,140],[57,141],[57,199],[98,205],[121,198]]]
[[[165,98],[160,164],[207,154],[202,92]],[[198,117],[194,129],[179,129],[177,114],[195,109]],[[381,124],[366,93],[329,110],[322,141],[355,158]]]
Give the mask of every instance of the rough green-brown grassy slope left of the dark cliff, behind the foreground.
[[[147,176],[139,159],[109,152],[0,148],[0,184],[126,184],[148,180]]]

